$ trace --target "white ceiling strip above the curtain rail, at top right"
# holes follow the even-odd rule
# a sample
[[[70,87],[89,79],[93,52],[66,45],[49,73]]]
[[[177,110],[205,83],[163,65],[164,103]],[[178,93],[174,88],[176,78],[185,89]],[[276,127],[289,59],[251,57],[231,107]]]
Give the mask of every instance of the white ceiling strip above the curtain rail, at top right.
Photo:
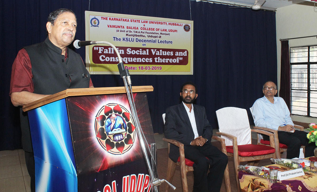
[[[212,0],[209,0],[212,2]],[[217,1],[217,0],[216,0]],[[242,5],[249,5],[252,6],[255,2],[255,0],[220,0],[221,2],[225,3],[236,3],[236,4],[242,4]],[[262,7],[271,7],[271,8],[281,8],[286,7],[293,4],[304,4],[304,5],[310,5],[314,6],[314,2],[310,2],[310,0],[266,0]],[[317,5],[317,3],[316,3]]]

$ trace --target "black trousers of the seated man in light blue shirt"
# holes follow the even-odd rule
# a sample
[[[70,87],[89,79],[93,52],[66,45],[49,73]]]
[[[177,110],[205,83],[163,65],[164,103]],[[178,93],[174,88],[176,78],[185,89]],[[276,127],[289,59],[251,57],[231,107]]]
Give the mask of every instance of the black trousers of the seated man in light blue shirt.
[[[269,140],[267,135],[263,135],[264,140]],[[307,132],[295,130],[294,133],[279,131],[278,139],[280,143],[287,145],[286,159],[299,157],[301,145],[305,146],[305,157],[314,156],[315,143],[308,143]]]

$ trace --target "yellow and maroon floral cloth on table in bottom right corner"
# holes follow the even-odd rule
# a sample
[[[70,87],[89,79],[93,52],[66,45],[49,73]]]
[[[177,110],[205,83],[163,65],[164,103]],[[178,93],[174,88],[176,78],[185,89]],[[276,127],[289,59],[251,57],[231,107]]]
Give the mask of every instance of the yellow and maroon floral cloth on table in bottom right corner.
[[[306,159],[306,158],[305,158]],[[271,166],[271,165],[268,165]],[[268,166],[265,166],[268,168]],[[273,164],[280,167],[279,171],[288,171],[282,165]],[[262,192],[262,191],[280,191],[280,192],[306,192],[317,191],[317,173],[305,172],[305,175],[294,177],[277,183],[270,183],[268,179],[257,177],[245,171],[239,171],[239,182],[242,192]]]

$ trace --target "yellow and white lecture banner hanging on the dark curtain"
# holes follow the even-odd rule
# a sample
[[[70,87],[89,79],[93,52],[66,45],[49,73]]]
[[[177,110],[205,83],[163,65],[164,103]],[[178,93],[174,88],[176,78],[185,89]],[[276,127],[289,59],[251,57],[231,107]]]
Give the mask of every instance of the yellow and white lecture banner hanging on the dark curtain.
[[[86,40],[107,41],[130,74],[192,75],[193,21],[85,11]],[[90,74],[119,74],[111,46],[86,46]]]

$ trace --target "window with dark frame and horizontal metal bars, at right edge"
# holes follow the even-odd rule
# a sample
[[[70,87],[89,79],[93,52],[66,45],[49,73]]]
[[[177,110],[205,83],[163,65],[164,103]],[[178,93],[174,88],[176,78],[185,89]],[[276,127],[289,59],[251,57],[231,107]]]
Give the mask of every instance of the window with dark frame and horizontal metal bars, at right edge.
[[[291,114],[317,117],[317,45],[290,48]]]

